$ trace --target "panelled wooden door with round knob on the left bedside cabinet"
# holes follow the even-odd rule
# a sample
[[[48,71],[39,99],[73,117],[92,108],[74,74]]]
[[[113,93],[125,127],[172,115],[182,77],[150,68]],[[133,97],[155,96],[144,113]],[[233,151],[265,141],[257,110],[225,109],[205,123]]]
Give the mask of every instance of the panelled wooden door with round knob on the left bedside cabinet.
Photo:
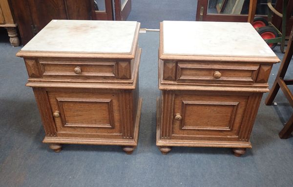
[[[47,92],[57,134],[121,137],[119,92]]]

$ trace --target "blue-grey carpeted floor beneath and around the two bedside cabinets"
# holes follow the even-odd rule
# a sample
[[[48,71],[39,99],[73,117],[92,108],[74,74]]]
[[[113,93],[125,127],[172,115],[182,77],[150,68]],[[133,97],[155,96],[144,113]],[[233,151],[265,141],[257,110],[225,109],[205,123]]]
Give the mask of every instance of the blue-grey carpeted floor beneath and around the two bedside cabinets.
[[[135,7],[133,0],[132,11]],[[155,28],[152,21],[141,22]],[[281,92],[273,106],[264,105],[264,94],[251,134],[253,148],[243,157],[233,156],[230,148],[193,147],[173,147],[162,155],[155,145],[159,33],[141,33],[144,101],[137,149],[126,155],[120,146],[64,145],[54,153],[42,143],[35,98],[24,86],[27,72],[15,56],[21,47],[11,47],[8,40],[0,29],[0,187],[292,187],[293,138],[281,140],[278,132],[293,110]],[[282,59],[279,48],[274,51]],[[278,68],[273,67],[270,85]],[[293,66],[288,72],[292,77]]]

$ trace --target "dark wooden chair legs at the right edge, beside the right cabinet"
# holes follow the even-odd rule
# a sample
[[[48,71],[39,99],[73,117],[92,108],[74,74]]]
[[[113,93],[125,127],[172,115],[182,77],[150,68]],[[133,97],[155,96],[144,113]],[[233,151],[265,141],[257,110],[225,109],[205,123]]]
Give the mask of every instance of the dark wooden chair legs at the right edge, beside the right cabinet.
[[[284,55],[284,58],[282,60],[280,69],[278,71],[277,77],[272,85],[272,89],[270,91],[270,94],[268,95],[266,99],[266,105],[271,105],[273,99],[275,98],[276,94],[278,93],[279,89],[283,91],[284,95],[288,99],[289,103],[293,107],[293,94],[289,90],[287,85],[292,85],[293,80],[285,80],[285,74],[289,67],[290,61],[292,59],[293,55],[293,45],[292,45],[292,39],[293,39],[293,30],[291,31],[290,39],[288,41],[288,46],[286,48],[286,52]],[[286,123],[284,128],[280,131],[279,137],[281,139],[287,139],[293,132],[293,115],[290,117],[289,121]]]

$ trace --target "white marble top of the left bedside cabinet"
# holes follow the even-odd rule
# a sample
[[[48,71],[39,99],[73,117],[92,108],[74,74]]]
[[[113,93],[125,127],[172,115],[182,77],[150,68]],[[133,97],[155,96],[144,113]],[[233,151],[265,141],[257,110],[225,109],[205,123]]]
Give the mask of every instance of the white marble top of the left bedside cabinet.
[[[52,20],[21,51],[130,53],[137,24]]]

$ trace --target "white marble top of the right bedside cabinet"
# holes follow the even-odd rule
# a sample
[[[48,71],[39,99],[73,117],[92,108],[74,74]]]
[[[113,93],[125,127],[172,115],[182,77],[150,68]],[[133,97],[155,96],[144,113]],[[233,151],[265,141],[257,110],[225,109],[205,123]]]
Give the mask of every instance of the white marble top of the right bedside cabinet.
[[[163,53],[276,57],[250,23],[163,22]]]

